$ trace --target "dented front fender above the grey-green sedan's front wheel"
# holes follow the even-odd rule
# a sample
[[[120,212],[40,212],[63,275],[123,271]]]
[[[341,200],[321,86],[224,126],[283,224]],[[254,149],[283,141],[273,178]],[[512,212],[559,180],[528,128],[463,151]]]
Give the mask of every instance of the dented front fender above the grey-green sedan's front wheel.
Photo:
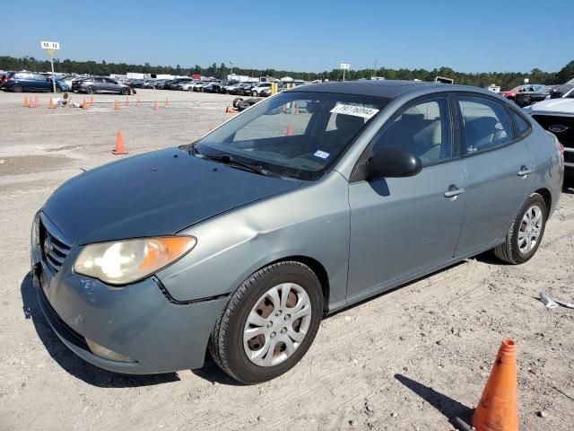
[[[338,172],[187,227],[196,248],[157,276],[178,301],[233,292],[265,265],[291,256],[326,269],[329,303],[344,305],[349,259],[348,182]],[[338,307],[337,307],[338,308]]]

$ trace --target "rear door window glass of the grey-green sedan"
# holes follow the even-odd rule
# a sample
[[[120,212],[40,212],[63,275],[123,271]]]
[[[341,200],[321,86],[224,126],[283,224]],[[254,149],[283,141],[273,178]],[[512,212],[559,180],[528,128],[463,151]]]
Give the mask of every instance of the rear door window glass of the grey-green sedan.
[[[482,97],[461,96],[458,106],[463,120],[463,154],[474,154],[513,139],[512,126],[504,106]]]

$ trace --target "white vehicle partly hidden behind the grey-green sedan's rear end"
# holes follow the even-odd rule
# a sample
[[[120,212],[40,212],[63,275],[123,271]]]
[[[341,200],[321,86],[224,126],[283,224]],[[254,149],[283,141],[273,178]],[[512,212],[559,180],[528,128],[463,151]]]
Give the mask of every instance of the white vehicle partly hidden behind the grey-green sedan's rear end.
[[[525,110],[564,146],[566,174],[574,177],[574,96],[539,101]]]

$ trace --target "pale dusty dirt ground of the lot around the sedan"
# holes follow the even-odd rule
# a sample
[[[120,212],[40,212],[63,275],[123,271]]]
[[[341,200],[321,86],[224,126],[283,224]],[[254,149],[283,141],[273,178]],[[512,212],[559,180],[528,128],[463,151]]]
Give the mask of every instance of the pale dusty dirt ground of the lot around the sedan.
[[[574,310],[548,311],[536,297],[574,301],[573,189],[525,265],[486,253],[339,312],[273,382],[238,385],[213,362],[133,377],[84,363],[39,310],[32,216],[64,180],[126,157],[111,154],[117,130],[130,155],[187,143],[229,118],[232,97],[142,90],[129,107],[97,95],[85,111],[48,110],[48,98],[28,109],[0,93],[1,430],[450,430],[475,407],[504,338],[517,342],[522,428],[572,429]]]

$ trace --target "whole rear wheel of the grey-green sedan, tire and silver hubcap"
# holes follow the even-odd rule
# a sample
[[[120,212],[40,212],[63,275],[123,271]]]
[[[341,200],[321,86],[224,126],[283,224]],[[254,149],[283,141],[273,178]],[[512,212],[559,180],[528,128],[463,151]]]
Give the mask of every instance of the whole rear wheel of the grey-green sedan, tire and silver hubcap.
[[[547,214],[542,196],[535,193],[526,199],[510,226],[506,241],[494,249],[496,257],[513,265],[532,258],[544,236]]]

